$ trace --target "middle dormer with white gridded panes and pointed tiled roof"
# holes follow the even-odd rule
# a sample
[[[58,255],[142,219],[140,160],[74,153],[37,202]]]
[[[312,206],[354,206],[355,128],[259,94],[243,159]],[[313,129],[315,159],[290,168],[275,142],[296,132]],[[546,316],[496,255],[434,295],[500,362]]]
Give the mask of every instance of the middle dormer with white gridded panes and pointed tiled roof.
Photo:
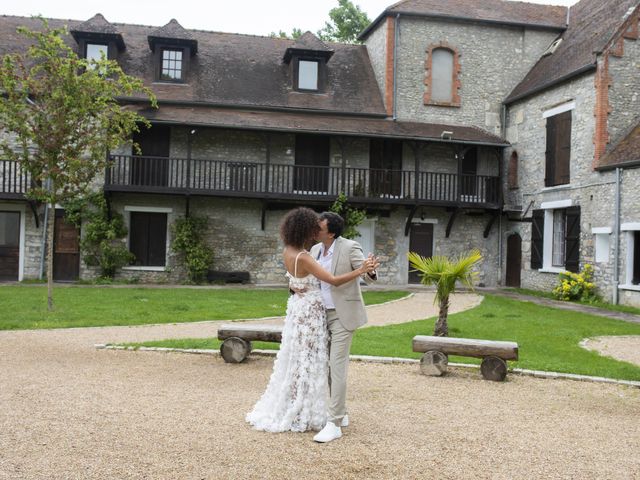
[[[175,19],[147,37],[154,53],[156,80],[184,83],[188,80],[191,57],[198,52],[198,41]]]

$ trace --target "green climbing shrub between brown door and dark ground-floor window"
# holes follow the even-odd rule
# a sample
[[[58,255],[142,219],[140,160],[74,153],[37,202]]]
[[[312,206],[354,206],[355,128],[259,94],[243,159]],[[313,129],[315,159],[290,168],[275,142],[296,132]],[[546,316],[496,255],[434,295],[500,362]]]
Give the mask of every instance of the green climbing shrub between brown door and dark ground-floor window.
[[[109,214],[102,193],[69,201],[64,207],[67,220],[78,228],[84,226],[80,250],[87,265],[100,268],[101,278],[113,279],[120,268],[135,260],[122,242],[127,235],[124,218],[119,213]]]

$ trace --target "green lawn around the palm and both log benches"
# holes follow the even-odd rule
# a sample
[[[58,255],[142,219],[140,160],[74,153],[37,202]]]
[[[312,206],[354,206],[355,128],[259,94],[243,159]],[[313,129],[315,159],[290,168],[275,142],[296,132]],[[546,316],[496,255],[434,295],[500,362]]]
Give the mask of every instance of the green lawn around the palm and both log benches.
[[[359,329],[352,354],[420,358],[411,350],[415,335],[430,335],[434,319],[384,327]],[[579,346],[584,338],[602,335],[640,335],[640,324],[585,315],[531,302],[486,295],[481,305],[449,316],[452,337],[511,340],[518,342],[520,360],[511,367],[545,370],[625,380],[640,380],[640,367],[590,352]],[[217,339],[181,339],[146,342],[144,346],[217,349]],[[254,348],[278,348],[255,342]],[[449,361],[480,363],[478,359],[452,356]]]

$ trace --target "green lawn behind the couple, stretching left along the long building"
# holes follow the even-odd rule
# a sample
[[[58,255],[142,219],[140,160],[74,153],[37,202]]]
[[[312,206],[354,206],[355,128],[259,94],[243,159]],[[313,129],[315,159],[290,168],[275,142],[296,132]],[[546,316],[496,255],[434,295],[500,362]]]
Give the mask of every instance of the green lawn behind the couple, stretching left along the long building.
[[[372,305],[407,295],[364,292]],[[55,311],[47,312],[45,286],[1,286],[0,330],[94,327],[238,320],[284,315],[286,288],[56,287]]]

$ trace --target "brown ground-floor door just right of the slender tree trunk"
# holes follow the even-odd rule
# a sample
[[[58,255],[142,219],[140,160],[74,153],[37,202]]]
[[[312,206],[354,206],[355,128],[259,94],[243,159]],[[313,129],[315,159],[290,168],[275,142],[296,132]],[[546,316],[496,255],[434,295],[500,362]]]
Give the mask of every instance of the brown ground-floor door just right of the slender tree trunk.
[[[64,218],[64,210],[56,210],[53,228],[53,279],[60,282],[80,276],[80,235]]]

